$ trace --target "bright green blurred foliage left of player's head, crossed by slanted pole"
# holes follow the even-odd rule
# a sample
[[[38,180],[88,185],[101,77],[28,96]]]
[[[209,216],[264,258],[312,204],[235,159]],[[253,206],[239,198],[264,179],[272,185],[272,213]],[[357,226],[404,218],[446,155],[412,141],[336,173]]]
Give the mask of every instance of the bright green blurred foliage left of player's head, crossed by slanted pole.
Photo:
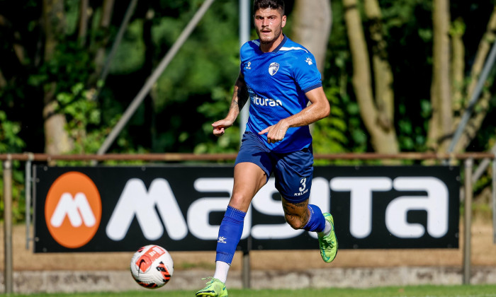
[[[191,8],[195,10],[184,13],[179,20],[164,18],[152,28],[153,42],[157,47],[176,41],[193,12],[196,12],[195,6]],[[226,1],[214,4],[205,13],[198,28],[157,82],[154,92],[158,112],[167,108],[167,103],[171,101],[184,102],[195,97],[195,94],[201,94],[206,99],[208,97],[205,96],[210,97],[219,86],[231,88],[239,71],[239,41],[237,33],[232,31],[237,21],[232,16],[236,13],[237,7]]]

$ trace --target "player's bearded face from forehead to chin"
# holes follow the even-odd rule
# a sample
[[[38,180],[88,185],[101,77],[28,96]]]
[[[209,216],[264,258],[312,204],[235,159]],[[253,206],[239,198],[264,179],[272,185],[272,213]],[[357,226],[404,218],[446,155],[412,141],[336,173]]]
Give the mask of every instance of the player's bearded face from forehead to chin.
[[[281,37],[286,25],[286,16],[281,16],[278,10],[260,8],[255,12],[254,24],[262,44],[270,44]]]

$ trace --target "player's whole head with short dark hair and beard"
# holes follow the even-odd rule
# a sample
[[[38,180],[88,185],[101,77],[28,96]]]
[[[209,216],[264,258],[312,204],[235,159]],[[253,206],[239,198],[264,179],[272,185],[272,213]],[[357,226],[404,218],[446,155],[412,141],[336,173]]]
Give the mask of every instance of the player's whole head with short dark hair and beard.
[[[261,44],[271,45],[281,40],[281,34],[286,25],[284,1],[255,0],[253,11],[254,25]]]

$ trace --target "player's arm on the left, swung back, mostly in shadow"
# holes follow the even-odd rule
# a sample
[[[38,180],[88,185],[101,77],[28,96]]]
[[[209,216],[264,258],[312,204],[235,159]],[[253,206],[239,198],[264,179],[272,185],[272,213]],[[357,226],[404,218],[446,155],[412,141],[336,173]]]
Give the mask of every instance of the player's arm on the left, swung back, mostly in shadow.
[[[220,121],[214,122],[212,124],[213,134],[215,136],[222,136],[224,134],[225,129],[232,126],[235,122],[239,112],[241,112],[243,106],[247,103],[248,100],[248,91],[247,85],[244,83],[244,77],[242,74],[239,74],[235,83],[235,91],[232,94],[231,105],[229,107],[229,112],[227,112],[227,116]]]

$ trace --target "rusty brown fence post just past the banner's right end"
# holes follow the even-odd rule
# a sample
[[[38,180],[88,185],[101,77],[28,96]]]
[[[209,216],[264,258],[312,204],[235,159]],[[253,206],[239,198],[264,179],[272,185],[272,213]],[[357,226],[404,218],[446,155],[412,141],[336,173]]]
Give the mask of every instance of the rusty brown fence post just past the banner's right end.
[[[472,168],[473,159],[465,160],[465,212],[463,219],[463,284],[470,284],[470,231],[472,229]]]

